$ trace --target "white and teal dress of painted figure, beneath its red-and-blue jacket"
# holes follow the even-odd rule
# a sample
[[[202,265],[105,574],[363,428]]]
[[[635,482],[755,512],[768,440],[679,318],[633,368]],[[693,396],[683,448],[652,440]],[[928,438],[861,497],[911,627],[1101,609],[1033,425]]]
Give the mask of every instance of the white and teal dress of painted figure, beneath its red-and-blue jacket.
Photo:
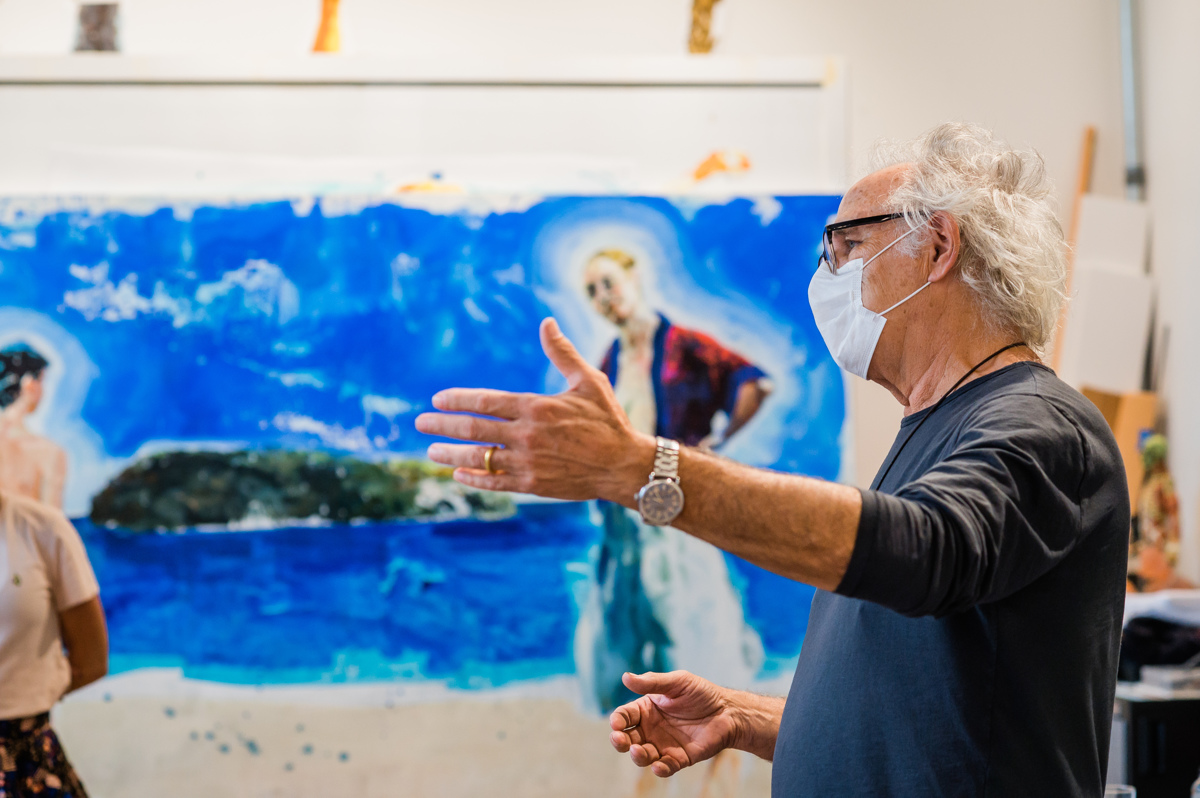
[[[622,347],[613,390],[635,428],[654,434],[653,355]],[[688,487],[684,485],[684,491]],[[576,631],[583,694],[601,712],[632,700],[625,671],[691,671],[748,688],[762,667],[758,634],[746,624],[725,554],[673,527],[601,502],[604,539]]]

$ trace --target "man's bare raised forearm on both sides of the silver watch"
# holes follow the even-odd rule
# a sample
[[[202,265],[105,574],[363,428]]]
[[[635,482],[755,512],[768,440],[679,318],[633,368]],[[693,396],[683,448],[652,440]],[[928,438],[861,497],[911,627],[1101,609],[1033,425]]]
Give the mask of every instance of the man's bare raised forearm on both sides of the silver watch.
[[[654,462],[654,439],[614,463],[601,498],[636,508]],[[835,482],[778,474],[707,455],[680,454],[683,514],[671,524],[787,578],[832,590],[854,551],[863,497]]]

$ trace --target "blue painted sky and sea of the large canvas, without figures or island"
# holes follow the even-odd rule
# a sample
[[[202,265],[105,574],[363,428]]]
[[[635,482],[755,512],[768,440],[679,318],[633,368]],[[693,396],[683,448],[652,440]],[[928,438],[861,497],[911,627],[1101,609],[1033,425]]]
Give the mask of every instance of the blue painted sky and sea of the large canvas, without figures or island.
[[[492,515],[469,496],[426,505],[421,492],[442,482],[420,472],[404,497],[419,514],[406,517],[342,518],[319,503],[307,518],[142,528],[97,508],[138,463],[197,452],[304,452],[331,458],[320,461],[330,473],[380,463],[391,479],[401,467],[388,463],[424,458],[431,439],[413,420],[436,391],[564,388],[538,343],[544,317],[601,362],[614,332],[583,280],[599,251],[632,253],[664,318],[769,377],[761,412],[724,454],[839,479],[842,376],[806,299],[836,204],[0,202],[0,348],[49,362],[30,428],[67,452],[65,510],[101,582],[114,670],[464,689],[575,673],[602,527],[594,503],[518,499]],[[247,502],[247,517],[265,512]],[[456,502],[462,511],[448,511]],[[726,562],[761,638],[761,673],[786,668],[811,588]]]

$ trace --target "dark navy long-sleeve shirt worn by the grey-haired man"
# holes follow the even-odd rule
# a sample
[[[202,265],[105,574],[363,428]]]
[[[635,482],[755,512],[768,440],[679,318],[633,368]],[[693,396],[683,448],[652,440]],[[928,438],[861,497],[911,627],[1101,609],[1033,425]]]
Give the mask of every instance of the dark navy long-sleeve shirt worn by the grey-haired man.
[[[928,413],[812,601],[773,794],[1099,796],[1129,533],[1112,433],[1028,362]]]

